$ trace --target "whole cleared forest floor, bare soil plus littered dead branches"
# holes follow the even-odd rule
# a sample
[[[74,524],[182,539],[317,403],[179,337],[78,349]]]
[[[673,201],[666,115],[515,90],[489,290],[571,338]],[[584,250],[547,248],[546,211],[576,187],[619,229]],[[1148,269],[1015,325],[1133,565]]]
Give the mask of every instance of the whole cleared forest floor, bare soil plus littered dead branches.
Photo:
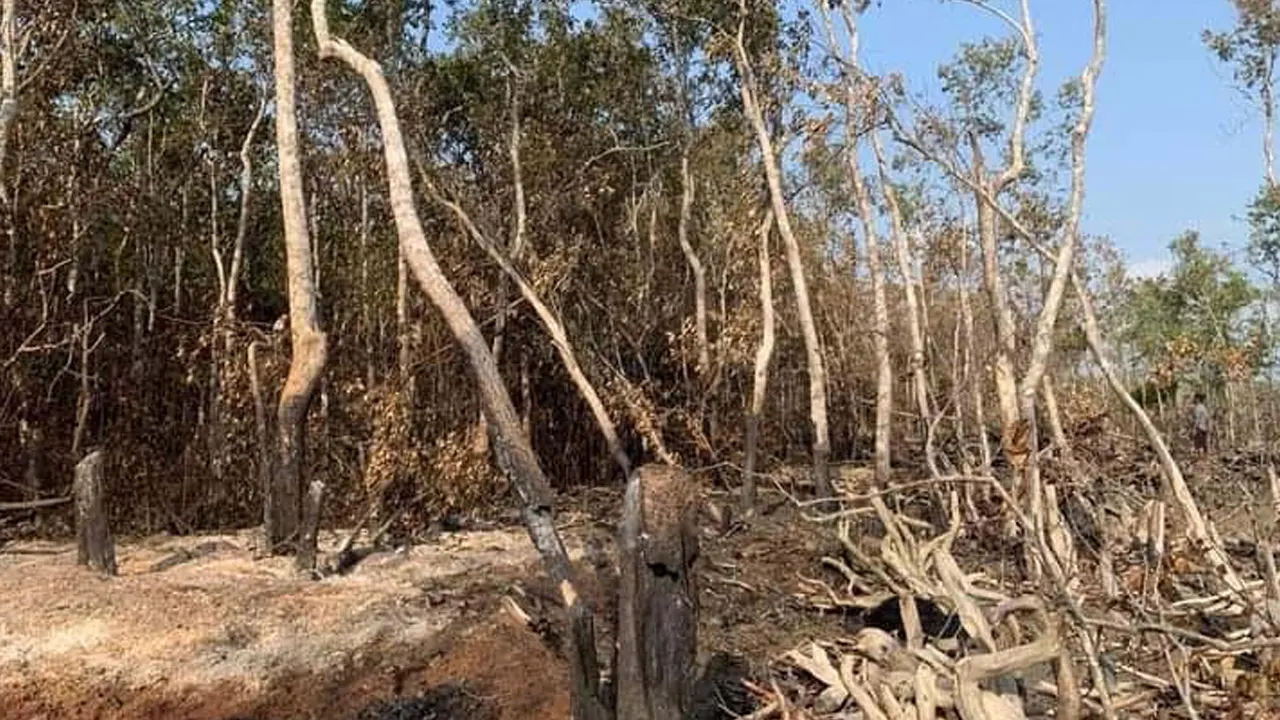
[[[1157,511],[1148,457],[1103,465],[1088,483],[1055,477],[1080,569],[1068,578],[1075,610],[1024,580],[998,498],[988,520],[948,525],[955,506],[904,482],[878,507],[822,519],[786,501],[780,475],[751,523],[703,528],[701,655],[727,684],[699,717],[733,716],[717,705],[760,719],[955,717],[966,703],[968,717],[1068,717],[1059,698],[1073,687],[1083,717],[1105,705],[1120,717],[1185,717],[1188,705],[1206,719],[1280,717],[1280,633],[1266,621],[1277,607],[1258,561],[1274,510],[1258,459],[1185,464],[1248,598],[1224,592],[1175,511]],[[614,489],[562,497],[557,524],[584,575],[588,548],[612,553],[618,503]],[[344,538],[325,533],[321,550]],[[1100,538],[1112,542],[1111,598]],[[77,568],[67,542],[9,542],[0,703],[50,719],[567,717],[556,592],[513,518],[319,582],[251,547],[248,533],[123,539],[120,577],[106,579]]]

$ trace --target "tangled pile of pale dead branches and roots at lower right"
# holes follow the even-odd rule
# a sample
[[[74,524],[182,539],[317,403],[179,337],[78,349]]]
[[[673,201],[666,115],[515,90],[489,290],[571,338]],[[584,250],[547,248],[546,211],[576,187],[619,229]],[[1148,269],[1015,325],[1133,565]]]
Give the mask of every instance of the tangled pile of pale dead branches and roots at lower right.
[[[1212,523],[1207,539],[1183,533],[1162,500],[1073,495],[1061,502],[1071,512],[1051,512],[1044,528],[1009,510],[1018,530],[1009,547],[1041,571],[997,574],[975,543],[957,543],[973,528],[960,492],[950,491],[941,533],[891,510],[890,496],[809,516],[832,525],[840,557],[822,564],[844,587],[801,584],[812,605],[860,629],[778,659],[754,717],[1280,719],[1280,580],[1268,542],[1225,542]],[[1082,511],[1093,514],[1088,533]],[[867,532],[863,515],[879,532]]]

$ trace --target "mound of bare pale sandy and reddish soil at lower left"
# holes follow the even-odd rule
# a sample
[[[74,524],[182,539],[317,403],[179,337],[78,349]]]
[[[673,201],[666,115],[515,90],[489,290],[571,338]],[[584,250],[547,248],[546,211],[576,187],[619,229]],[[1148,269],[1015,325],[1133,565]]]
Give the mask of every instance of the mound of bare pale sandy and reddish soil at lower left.
[[[394,691],[457,635],[493,625],[492,601],[536,561],[520,528],[453,533],[312,582],[289,559],[255,559],[251,546],[248,534],[122,542],[116,578],[77,566],[69,543],[6,546],[3,715],[342,717],[385,689],[346,685]],[[207,555],[155,569],[196,548]],[[526,655],[544,650],[525,634]],[[357,697],[335,706],[326,688]]]

